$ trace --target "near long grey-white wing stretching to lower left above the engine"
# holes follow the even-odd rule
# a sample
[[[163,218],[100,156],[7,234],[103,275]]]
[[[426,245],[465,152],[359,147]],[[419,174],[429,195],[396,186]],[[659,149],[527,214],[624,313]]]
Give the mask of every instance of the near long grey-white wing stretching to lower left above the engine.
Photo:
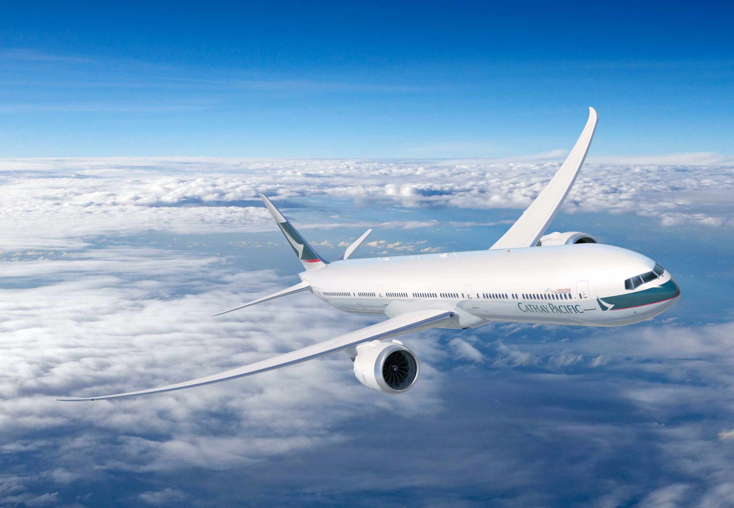
[[[195,386],[219,383],[220,381],[242,378],[244,376],[259,374],[260,372],[280,369],[280,367],[287,367],[288,365],[299,364],[302,361],[313,360],[313,358],[319,358],[319,356],[330,355],[331,353],[336,353],[337,351],[342,351],[348,349],[349,347],[360,345],[363,342],[369,342],[376,339],[386,339],[391,336],[404,334],[408,331],[435,328],[435,326],[437,326],[440,321],[447,320],[451,317],[454,317],[455,315],[456,314],[454,312],[445,310],[421,310],[406,312],[405,314],[393,317],[392,319],[383,321],[382,323],[377,323],[377,325],[371,325],[357,331],[352,331],[349,332],[349,334],[341,335],[335,337],[334,339],[326,340],[324,342],[319,342],[319,344],[302,347],[299,350],[291,351],[291,353],[285,353],[283,355],[275,356],[274,358],[269,358],[267,360],[256,361],[254,364],[245,365],[244,367],[237,367],[236,369],[219,372],[219,374],[206,376],[206,378],[198,378],[191,381],[184,381],[183,383],[161,386],[160,388],[140,391],[128,391],[125,394],[57,400],[62,400],[65,402],[81,402],[85,400],[120,399],[122,397],[159,394],[163,391],[183,390],[186,388],[193,388]]]

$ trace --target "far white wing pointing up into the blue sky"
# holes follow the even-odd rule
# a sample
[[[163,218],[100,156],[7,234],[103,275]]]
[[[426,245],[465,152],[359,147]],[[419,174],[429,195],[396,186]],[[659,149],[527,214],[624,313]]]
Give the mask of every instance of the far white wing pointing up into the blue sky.
[[[490,249],[517,249],[533,247],[538,243],[563,205],[571,186],[576,181],[578,171],[584,165],[597,122],[599,122],[597,112],[594,108],[589,108],[589,120],[586,122],[586,127],[561,169],[556,172],[548,185],[545,185],[523,215]]]

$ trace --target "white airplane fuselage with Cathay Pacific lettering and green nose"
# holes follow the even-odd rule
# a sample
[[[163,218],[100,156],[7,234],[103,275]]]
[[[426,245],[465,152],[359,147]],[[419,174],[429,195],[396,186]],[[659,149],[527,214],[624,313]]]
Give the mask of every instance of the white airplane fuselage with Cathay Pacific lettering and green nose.
[[[625,290],[625,279],[654,267],[628,249],[581,243],[346,259],[299,276],[321,300],[358,314],[453,309],[459,321],[451,328],[491,321],[619,326],[650,319],[680,298],[667,270]]]

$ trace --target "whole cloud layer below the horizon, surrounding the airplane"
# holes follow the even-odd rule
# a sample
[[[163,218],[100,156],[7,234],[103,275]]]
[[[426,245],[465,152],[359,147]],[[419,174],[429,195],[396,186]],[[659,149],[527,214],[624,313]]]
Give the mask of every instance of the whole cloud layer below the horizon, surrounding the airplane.
[[[491,208],[522,207],[557,167],[462,164],[2,161],[0,504],[368,507],[396,491],[423,506],[724,504],[734,462],[726,301],[697,313],[704,299],[689,298],[666,320],[624,328],[492,323],[406,335],[421,361],[407,397],[365,389],[349,358],[334,355],[156,397],[52,400],[220,372],[379,320],[308,294],[210,316],[297,281],[288,246],[253,236],[279,234],[255,190],[288,215],[320,217],[295,221],[299,229],[380,224],[399,238],[368,245],[418,255],[438,249],[435,237],[415,240],[410,229],[481,235],[504,224]],[[731,224],[730,169],[589,169],[567,211]],[[336,205],[344,218],[333,218]],[[480,207],[487,220],[421,211],[446,207]],[[711,255],[728,259],[730,233],[711,231]],[[163,235],[179,241],[156,241]],[[667,256],[708,273],[683,251]],[[281,271],[286,256],[294,266]],[[698,284],[711,294],[722,277]],[[101,501],[103,485],[115,491]]]

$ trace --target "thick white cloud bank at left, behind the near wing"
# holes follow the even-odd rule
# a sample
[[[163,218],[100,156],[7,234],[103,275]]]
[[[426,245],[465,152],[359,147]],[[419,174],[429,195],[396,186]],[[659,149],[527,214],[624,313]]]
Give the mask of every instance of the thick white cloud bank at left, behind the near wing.
[[[280,289],[283,277],[272,270],[232,273],[216,258],[175,255],[109,247],[78,259],[10,264],[7,278],[46,282],[0,290],[1,312],[9,316],[0,325],[0,429],[7,436],[0,452],[43,449],[68,472],[16,479],[12,492],[0,488],[0,502],[60,504],[57,494],[36,493],[34,486],[74,483],[89,460],[97,474],[236,468],[341,443],[341,422],[357,414],[440,407],[432,388],[440,375],[429,365],[410,400],[365,399],[343,355],[155,400],[55,402],[63,394],[112,393],[220,372],[374,322],[337,314],[308,295],[291,298],[288,310],[266,304],[212,318]],[[195,289],[205,283],[206,290]],[[421,358],[435,355],[427,346],[414,347]],[[294,413],[298,405],[305,407]],[[167,487],[138,497],[162,505],[181,496],[180,487]]]

